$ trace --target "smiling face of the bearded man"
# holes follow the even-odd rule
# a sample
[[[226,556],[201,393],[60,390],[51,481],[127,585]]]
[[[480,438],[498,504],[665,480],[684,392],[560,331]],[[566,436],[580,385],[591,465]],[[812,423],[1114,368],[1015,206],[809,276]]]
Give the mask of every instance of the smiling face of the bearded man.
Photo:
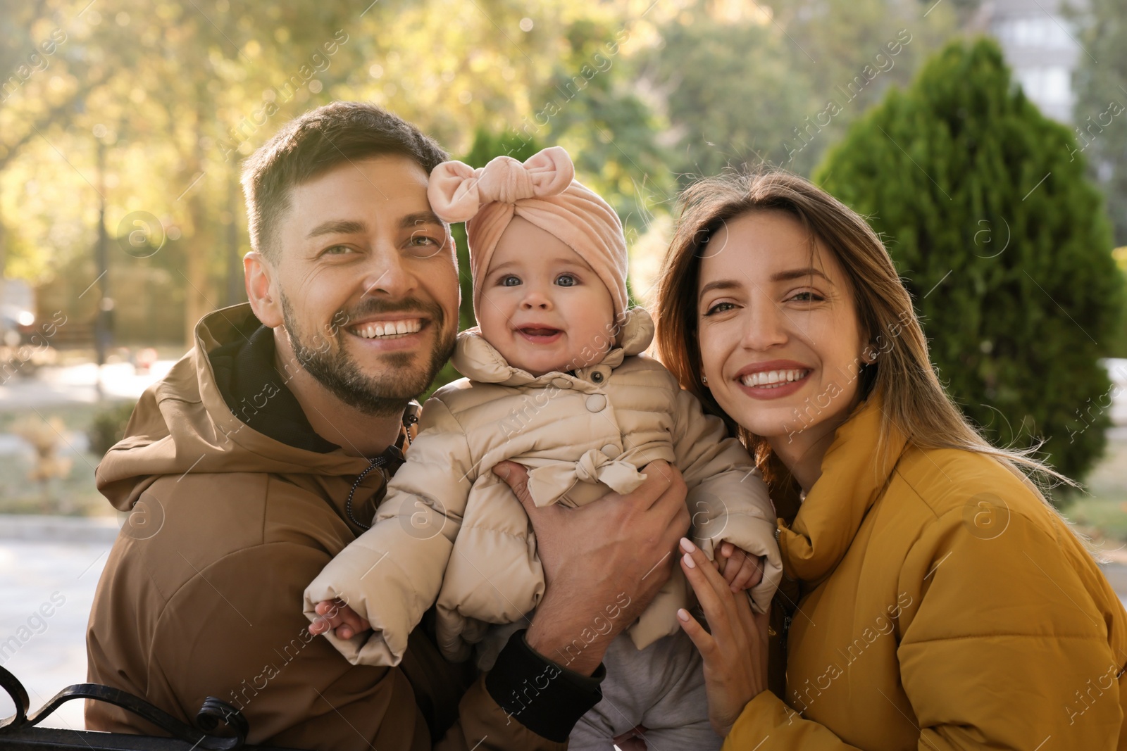
[[[458,266],[414,160],[346,162],[296,186],[278,224],[272,288],[294,356],[367,414],[431,384],[458,332]]]

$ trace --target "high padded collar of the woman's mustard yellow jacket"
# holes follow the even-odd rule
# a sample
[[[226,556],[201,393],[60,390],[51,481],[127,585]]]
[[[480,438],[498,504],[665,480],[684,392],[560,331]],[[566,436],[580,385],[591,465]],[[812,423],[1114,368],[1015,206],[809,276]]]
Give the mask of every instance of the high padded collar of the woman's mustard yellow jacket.
[[[795,520],[779,519],[779,548],[787,575],[817,583],[849,551],[864,515],[891,476],[907,439],[895,427],[887,453],[877,456],[881,400],[872,394],[837,428],[822,459],[822,475]]]

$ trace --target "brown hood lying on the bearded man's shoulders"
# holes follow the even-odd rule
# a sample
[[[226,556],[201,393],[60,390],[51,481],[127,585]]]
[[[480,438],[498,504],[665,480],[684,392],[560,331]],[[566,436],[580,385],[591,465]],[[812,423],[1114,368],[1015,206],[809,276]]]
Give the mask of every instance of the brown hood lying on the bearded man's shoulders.
[[[243,303],[210,313],[195,329],[195,347],[168,375],[141,395],[125,438],[95,470],[98,490],[114,508],[127,511],[160,475],[254,472],[318,475],[339,480],[369,466],[344,449],[317,453],[265,436],[242,422],[228,406],[215,382],[207,354],[246,337],[247,323],[257,323]],[[250,409],[260,409],[277,390],[264,388]]]

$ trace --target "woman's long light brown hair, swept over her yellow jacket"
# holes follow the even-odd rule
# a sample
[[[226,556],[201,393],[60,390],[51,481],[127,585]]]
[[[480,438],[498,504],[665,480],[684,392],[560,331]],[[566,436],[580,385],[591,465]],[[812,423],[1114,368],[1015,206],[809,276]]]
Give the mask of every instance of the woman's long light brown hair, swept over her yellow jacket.
[[[790,492],[789,472],[771,454],[766,440],[735,423],[701,381],[698,341],[698,294],[702,249],[726,222],[752,212],[783,212],[796,218],[844,269],[853,292],[860,330],[881,346],[875,365],[863,368],[862,396],[882,399],[878,456],[893,426],[921,448],[956,448],[985,454],[1018,475],[1039,498],[1039,485],[1053,481],[1074,485],[1035,457],[1037,446],[999,448],[987,441],[951,402],[928,357],[928,340],[912,298],[893,259],[869,224],[808,180],[782,170],[729,173],[700,180],[681,196],[681,215],[657,286],[657,349],[666,367],[706,409],[722,418],[755,455],[772,492]]]

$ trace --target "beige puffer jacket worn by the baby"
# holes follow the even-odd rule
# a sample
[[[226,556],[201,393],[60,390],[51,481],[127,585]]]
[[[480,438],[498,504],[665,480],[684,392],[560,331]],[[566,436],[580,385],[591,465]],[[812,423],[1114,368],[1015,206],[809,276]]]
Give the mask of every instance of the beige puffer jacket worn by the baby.
[[[343,598],[372,623],[371,635],[330,637],[354,664],[394,665],[407,635],[437,601],[437,642],[454,660],[489,624],[521,620],[540,602],[544,576],[521,503],[490,471],[529,467],[538,506],[582,506],[629,492],[638,470],[665,459],[684,475],[691,534],[711,556],[719,540],[766,556],[752,590],[763,611],[782,572],[774,508],[744,447],[706,415],[658,361],[639,356],[654,323],[628,313],[621,346],[602,363],[540,377],[511,367],[477,330],[462,332],[453,364],[467,376],[435,393],[418,438],[396,473],[372,528],[305,590],[305,614]],[[655,556],[656,564],[659,556]],[[677,631],[687,601],[680,569],[630,627],[642,649]]]

